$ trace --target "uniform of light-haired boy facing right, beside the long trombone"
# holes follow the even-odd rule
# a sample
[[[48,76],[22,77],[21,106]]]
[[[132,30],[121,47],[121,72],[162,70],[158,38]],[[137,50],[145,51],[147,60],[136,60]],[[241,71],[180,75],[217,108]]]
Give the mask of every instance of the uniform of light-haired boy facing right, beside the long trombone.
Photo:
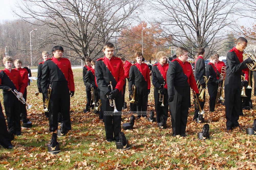
[[[206,70],[207,79],[209,78],[209,76],[211,76],[209,78],[209,81],[207,82],[208,94],[210,96],[209,111],[214,111],[216,97],[217,97],[218,84],[220,83],[220,81],[218,81],[218,77],[220,76],[220,73],[217,70],[217,68],[215,67],[215,65],[212,64],[211,62],[209,62],[206,65],[205,70]]]

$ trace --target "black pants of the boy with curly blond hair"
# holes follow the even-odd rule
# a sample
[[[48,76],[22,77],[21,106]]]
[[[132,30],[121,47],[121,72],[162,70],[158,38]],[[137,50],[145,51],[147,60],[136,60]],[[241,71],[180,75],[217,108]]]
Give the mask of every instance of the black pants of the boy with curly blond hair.
[[[162,102],[159,101],[158,89],[154,87],[154,99],[155,99],[155,110],[156,110],[156,121],[161,123],[161,116],[164,115],[168,117],[168,93],[164,94],[164,106]]]

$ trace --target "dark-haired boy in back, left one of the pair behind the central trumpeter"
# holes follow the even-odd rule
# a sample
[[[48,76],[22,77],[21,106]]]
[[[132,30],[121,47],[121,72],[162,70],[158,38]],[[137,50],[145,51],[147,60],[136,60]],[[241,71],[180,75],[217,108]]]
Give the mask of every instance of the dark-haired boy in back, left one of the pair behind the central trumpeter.
[[[90,57],[87,57],[87,58],[85,59],[86,65],[83,66],[83,83],[84,83],[84,85],[85,85],[86,100],[87,100],[86,109],[83,110],[84,113],[90,111],[90,108],[94,108],[94,106],[93,106],[93,104],[92,104],[93,102],[92,102],[92,100],[91,100],[91,87],[86,85],[87,82],[86,82],[86,78],[85,78],[85,75],[86,75],[87,71],[88,71],[89,69],[91,69],[91,67],[92,67],[91,61],[92,61],[91,58],[90,58]]]

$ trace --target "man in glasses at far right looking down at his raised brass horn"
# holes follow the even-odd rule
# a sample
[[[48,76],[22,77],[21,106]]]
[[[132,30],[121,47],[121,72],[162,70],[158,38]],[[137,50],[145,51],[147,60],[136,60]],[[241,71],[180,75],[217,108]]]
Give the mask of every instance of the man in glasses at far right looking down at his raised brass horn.
[[[247,68],[246,63],[253,63],[251,58],[243,61],[243,51],[247,47],[247,40],[244,37],[237,39],[236,47],[233,47],[227,54],[227,67],[225,77],[225,111],[226,127],[230,131],[239,127],[238,119],[240,114],[241,100],[241,74]]]

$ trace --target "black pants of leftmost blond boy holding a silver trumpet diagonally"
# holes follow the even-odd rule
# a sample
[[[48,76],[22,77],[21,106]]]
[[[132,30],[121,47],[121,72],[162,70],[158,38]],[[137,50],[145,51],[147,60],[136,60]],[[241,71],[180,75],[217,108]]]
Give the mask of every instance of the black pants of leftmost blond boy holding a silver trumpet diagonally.
[[[4,109],[7,117],[8,129],[14,127],[15,134],[21,133],[20,127],[20,104],[21,102],[12,92],[3,92]]]

